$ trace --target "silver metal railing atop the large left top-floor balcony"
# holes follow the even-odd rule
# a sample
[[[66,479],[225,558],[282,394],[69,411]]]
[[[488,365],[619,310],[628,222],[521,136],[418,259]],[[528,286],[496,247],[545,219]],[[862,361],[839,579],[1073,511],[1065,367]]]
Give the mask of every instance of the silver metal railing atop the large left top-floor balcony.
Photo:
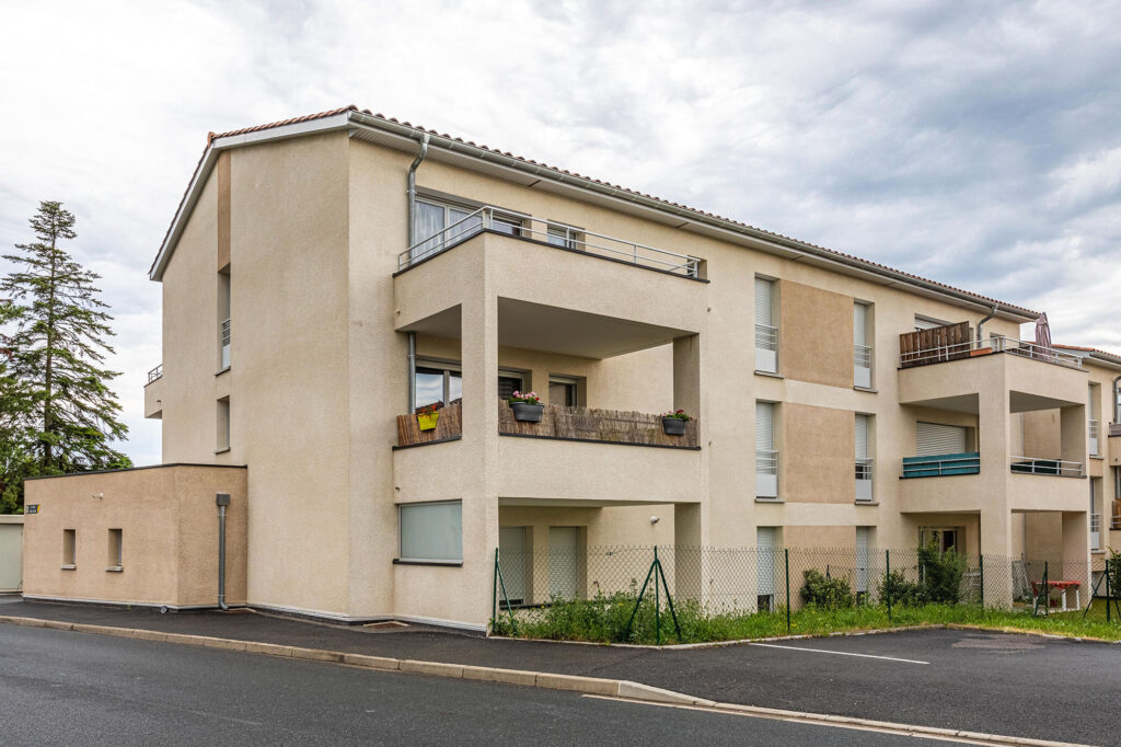
[[[540,224],[544,228],[535,228]],[[623,261],[633,262],[643,267],[666,270],[685,277],[698,277],[701,260],[697,257],[689,257],[668,249],[657,249],[637,241],[617,239],[594,231],[567,229],[564,236],[558,236],[557,227],[552,227],[546,221],[537,221],[531,218],[508,216],[501,210],[485,205],[475,212],[460,219],[442,231],[428,237],[424,241],[418,241],[397,256],[397,269],[402,270],[430,257],[451,249],[462,241],[479,234],[482,231],[494,229],[503,233],[534,239],[552,246],[564,246],[577,251],[586,251],[597,255],[604,253],[609,257]]]

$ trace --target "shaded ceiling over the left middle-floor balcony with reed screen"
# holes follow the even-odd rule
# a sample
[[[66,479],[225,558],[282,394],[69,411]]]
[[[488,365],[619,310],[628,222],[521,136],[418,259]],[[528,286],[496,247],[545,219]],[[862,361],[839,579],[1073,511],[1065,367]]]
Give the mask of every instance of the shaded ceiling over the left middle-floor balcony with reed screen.
[[[423,319],[409,325],[408,331],[458,340],[460,307]],[[688,334],[686,330],[571,308],[512,298],[498,299],[498,343],[509,348],[602,359],[657,348]]]

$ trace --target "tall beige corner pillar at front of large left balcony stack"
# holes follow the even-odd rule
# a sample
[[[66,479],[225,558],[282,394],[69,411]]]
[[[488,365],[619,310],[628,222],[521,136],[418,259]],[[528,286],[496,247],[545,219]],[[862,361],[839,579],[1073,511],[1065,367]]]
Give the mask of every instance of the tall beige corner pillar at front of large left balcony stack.
[[[463,354],[463,450],[465,469],[448,476],[463,496],[463,568],[461,588],[465,620],[485,624],[491,616],[494,548],[498,547],[498,495],[492,486],[498,465],[498,297],[485,277],[465,278],[475,288],[460,311]]]

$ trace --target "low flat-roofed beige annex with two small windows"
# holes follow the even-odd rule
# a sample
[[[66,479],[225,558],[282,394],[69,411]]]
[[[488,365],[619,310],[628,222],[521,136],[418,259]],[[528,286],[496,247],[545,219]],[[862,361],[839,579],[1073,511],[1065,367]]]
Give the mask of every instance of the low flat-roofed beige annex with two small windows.
[[[225,601],[244,605],[247,470],[205,464],[28,480],[24,596],[215,606],[220,492],[230,496]]]

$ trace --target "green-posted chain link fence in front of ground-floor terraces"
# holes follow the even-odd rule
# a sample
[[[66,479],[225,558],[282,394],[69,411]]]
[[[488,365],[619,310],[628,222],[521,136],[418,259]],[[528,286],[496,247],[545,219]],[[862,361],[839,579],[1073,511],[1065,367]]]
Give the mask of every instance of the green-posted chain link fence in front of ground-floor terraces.
[[[655,552],[674,602],[693,602],[711,615],[797,610],[810,602],[1023,603],[1050,611],[1084,607],[1096,580],[1085,562],[965,555],[933,547],[546,548],[498,554],[495,608],[532,616],[535,609],[558,601],[637,598]],[[1044,597],[1047,600],[1040,601]]]

